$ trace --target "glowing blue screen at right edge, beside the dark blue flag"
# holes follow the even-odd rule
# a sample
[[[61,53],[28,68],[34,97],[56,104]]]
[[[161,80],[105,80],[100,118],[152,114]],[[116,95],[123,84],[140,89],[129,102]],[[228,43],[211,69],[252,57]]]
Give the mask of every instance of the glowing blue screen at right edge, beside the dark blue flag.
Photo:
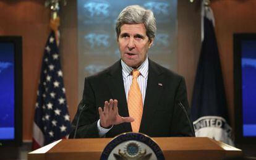
[[[242,41],[242,117],[244,137],[256,137],[256,40]]]

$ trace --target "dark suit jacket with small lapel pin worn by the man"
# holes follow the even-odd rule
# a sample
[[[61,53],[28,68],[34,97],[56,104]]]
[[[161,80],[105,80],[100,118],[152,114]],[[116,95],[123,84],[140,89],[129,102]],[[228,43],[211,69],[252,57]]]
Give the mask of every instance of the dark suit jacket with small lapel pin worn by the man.
[[[117,99],[120,116],[129,116],[121,61],[117,61],[96,75],[85,78],[83,99],[72,122],[73,129],[69,137],[74,136],[77,118],[84,105],[85,109],[80,116],[76,138],[99,137],[98,107],[103,107],[104,102],[109,99]],[[186,114],[177,105],[179,101],[186,107],[190,116],[184,78],[149,60],[147,90],[139,132],[150,137],[192,136]],[[106,133],[106,137],[115,137],[131,131],[130,123],[114,125]]]

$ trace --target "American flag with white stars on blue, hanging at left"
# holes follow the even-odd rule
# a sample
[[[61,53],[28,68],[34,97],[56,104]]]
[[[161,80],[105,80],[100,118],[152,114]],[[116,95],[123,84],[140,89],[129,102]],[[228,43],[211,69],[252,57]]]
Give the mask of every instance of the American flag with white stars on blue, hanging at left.
[[[70,117],[55,34],[48,37],[43,55],[33,122],[33,149],[67,137]]]

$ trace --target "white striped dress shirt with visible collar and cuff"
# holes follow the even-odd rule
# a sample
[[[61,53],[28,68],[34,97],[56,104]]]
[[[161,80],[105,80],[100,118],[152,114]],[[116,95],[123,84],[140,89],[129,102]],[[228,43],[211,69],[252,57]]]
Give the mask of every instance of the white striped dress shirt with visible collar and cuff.
[[[130,85],[132,85],[132,70],[134,70],[132,67],[129,67],[124,61],[121,60],[122,65],[122,79],[124,80],[124,90],[126,92],[126,100],[128,99],[128,93],[130,90]],[[146,89],[147,89],[147,82],[148,82],[148,57],[145,59],[145,61],[140,65],[137,70],[140,71],[140,75],[137,78],[140,91],[142,93],[142,101],[144,104],[145,95],[146,95]],[[105,134],[111,130],[111,128],[103,128],[100,126],[100,119],[97,122],[98,125],[98,131],[100,137],[104,137]]]

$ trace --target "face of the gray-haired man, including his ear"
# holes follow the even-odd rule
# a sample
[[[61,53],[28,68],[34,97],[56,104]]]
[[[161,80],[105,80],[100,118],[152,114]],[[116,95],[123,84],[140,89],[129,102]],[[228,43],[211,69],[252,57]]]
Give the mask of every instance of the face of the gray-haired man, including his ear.
[[[122,61],[136,69],[145,61],[153,39],[149,41],[143,23],[124,24],[117,42]]]

